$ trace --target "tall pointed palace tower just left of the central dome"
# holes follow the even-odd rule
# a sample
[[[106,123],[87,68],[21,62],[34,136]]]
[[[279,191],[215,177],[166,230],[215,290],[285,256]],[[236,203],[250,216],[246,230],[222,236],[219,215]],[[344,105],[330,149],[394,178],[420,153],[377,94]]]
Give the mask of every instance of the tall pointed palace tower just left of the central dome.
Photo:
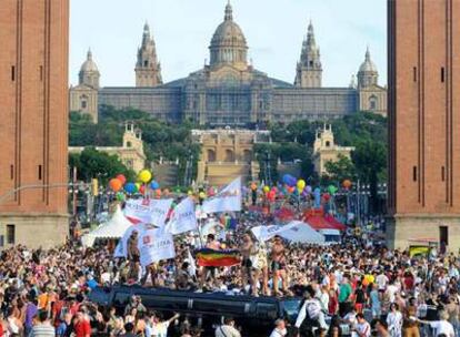
[[[157,86],[163,84],[161,79],[161,64],[157,60],[157,48],[150,37],[149,24],[143,27],[142,44],[138,49],[136,63],[136,86]]]

